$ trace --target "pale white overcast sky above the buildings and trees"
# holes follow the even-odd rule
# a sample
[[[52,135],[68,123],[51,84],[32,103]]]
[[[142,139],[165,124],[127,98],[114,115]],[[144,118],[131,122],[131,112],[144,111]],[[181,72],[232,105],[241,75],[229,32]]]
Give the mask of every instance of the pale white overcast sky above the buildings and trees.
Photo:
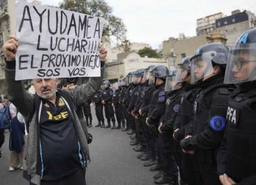
[[[31,2],[32,0],[28,0]],[[41,0],[43,5],[58,6],[62,0]],[[231,15],[235,9],[256,14],[255,0],[105,0],[113,14],[122,18],[131,42],[149,43],[158,48],[169,37],[195,36],[196,21],[203,16],[223,12]]]

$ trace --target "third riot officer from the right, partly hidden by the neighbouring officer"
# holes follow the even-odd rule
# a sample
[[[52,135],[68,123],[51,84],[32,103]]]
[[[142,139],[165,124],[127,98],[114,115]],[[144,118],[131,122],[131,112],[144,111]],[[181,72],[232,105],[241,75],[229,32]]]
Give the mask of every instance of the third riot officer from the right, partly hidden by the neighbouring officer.
[[[191,85],[191,62],[192,56],[188,56],[178,65],[179,72],[175,82],[184,83],[184,93],[181,97],[181,106],[179,108],[177,128],[174,130],[173,137],[177,142],[180,142],[188,135],[192,135],[191,122],[193,120],[193,103],[195,97],[200,91],[200,82]],[[178,75],[179,74],[179,75]],[[197,158],[193,154],[181,153],[181,164],[179,164],[179,174],[181,176],[181,184],[196,185],[202,184],[198,181]],[[181,165],[181,166],[180,166]]]

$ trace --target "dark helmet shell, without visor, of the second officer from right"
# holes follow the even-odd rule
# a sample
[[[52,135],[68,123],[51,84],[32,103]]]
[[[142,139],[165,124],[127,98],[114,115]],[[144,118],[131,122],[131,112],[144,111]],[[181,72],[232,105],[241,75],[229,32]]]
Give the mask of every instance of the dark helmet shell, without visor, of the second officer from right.
[[[207,43],[198,48],[195,55],[192,56],[190,60],[209,52],[211,61],[215,63],[215,65],[225,66],[228,60],[228,51],[228,47],[222,43]]]

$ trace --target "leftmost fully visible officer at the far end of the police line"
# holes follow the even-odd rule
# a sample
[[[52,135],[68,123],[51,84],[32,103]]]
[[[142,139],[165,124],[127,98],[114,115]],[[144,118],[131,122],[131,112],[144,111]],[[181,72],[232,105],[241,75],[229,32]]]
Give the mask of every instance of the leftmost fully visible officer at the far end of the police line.
[[[115,111],[112,107],[112,96],[113,96],[113,90],[110,88],[109,80],[105,80],[103,82],[103,88],[102,96],[101,96],[101,103],[104,105],[105,109],[105,117],[107,118],[108,125],[105,128],[111,127],[110,122],[112,120],[112,128],[115,128]]]

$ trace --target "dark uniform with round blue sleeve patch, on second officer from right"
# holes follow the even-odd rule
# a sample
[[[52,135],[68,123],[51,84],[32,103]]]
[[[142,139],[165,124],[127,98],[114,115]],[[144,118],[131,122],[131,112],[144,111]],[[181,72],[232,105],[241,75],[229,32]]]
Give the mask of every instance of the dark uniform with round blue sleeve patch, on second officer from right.
[[[201,91],[194,102],[193,135],[181,140],[184,150],[195,150],[203,184],[221,184],[216,175],[217,150],[223,138],[228,90],[223,85],[223,73],[218,73],[201,84]]]

